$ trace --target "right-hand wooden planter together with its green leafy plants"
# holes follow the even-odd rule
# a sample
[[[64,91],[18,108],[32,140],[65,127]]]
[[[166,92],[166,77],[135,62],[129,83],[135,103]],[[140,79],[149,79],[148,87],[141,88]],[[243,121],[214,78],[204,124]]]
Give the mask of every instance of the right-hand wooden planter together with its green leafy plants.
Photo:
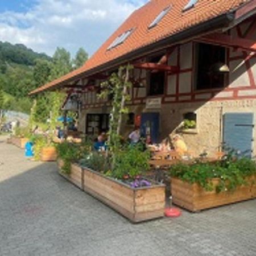
[[[192,212],[256,197],[256,165],[251,159],[180,163],[170,174],[173,203]]]

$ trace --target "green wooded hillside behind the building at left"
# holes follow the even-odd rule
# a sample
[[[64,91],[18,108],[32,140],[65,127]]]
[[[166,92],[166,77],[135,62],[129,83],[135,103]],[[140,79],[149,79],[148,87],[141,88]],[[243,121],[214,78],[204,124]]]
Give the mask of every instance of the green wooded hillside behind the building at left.
[[[0,42],[1,109],[29,113],[33,102],[28,97],[31,90],[81,67],[87,59],[88,53],[83,48],[72,59],[64,48],[57,47],[50,57],[22,44]],[[48,107],[43,95],[37,96],[37,100],[39,108]]]

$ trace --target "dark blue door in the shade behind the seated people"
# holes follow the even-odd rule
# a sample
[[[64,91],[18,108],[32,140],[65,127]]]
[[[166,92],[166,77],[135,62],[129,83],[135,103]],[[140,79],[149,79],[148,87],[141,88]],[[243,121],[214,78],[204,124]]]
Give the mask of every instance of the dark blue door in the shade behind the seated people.
[[[141,115],[141,134],[144,138],[150,135],[152,143],[158,142],[159,120],[159,113],[142,113]]]

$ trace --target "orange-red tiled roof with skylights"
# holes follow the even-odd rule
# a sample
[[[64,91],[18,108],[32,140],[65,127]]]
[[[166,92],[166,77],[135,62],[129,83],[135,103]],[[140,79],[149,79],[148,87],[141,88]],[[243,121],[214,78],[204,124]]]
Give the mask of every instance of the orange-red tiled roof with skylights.
[[[151,0],[140,9],[135,10],[118,30],[102,44],[100,49],[86,61],[84,66],[59,79],[49,82],[49,84],[41,86],[34,90],[34,92],[31,92],[31,94],[42,92],[60,83],[62,84],[81,73],[86,74],[86,72],[93,68],[108,63],[129,52],[133,52],[136,49],[148,46],[161,39],[187,30],[197,24],[206,22],[221,14],[228,13],[247,2],[250,2],[250,0],[198,0],[195,7],[183,12],[183,8],[187,5],[188,0]],[[148,30],[148,26],[156,16],[170,5],[172,7],[167,15],[160,20],[157,26]],[[131,28],[135,28],[135,30],[125,42],[115,48],[107,50],[117,36]]]

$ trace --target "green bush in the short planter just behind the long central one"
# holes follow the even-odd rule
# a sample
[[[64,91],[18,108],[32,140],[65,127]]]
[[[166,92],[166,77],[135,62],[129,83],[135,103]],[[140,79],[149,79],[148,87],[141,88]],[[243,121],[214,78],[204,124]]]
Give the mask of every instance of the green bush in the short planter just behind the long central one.
[[[84,147],[81,144],[73,144],[69,142],[63,142],[56,145],[56,150],[59,158],[64,162],[62,168],[63,172],[69,174],[71,171],[71,163],[77,162],[85,154]]]

